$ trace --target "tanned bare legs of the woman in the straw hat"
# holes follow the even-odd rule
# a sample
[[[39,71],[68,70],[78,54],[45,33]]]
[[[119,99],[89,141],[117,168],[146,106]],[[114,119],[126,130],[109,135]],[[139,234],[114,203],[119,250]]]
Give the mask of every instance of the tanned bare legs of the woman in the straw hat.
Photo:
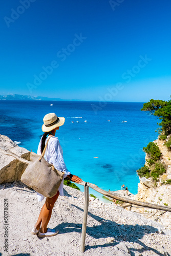
[[[54,197],[52,197],[52,198],[47,197],[45,204],[41,208],[38,220],[35,224],[35,228],[37,230],[39,230],[40,225],[41,225],[40,232],[42,232],[42,233],[47,232],[47,225],[50,221],[50,218],[52,215],[52,209],[53,209],[53,206],[54,206],[56,200],[58,199],[58,196],[59,196],[59,191],[57,191],[57,193]]]

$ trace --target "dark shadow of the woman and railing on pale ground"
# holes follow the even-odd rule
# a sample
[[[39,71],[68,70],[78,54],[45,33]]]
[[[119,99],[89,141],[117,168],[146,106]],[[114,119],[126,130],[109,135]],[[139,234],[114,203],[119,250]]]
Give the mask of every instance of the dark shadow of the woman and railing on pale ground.
[[[73,204],[72,206],[76,207],[78,210],[83,212],[82,208]],[[87,245],[86,250],[91,248],[97,248],[97,247],[115,246],[121,242],[128,241],[128,242],[138,243],[139,245],[142,246],[141,249],[135,249],[134,247],[130,248],[132,256],[135,255],[134,251],[138,251],[139,253],[142,253],[143,251],[146,251],[146,250],[152,250],[156,254],[163,256],[163,254],[159,252],[157,249],[154,249],[150,246],[146,246],[143,242],[140,241],[140,239],[142,239],[145,234],[158,232],[157,228],[149,225],[140,226],[138,224],[136,225],[117,224],[113,221],[106,220],[99,216],[96,216],[92,214],[90,211],[88,212],[88,215],[94,220],[99,222],[99,225],[94,225],[93,227],[87,226],[86,232],[90,237],[93,237],[95,239],[114,237],[116,241],[112,243],[108,242],[103,245],[100,245],[100,244],[92,245],[92,246]],[[55,228],[59,229],[60,233],[69,233],[69,232],[81,233],[82,224],[61,223]]]

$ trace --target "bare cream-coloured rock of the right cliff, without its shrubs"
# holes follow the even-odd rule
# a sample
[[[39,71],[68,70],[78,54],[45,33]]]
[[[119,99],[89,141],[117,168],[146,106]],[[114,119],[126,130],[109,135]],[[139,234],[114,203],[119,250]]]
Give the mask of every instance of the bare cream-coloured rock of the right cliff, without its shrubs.
[[[162,153],[160,161],[166,165],[166,173],[160,176],[158,182],[153,181],[153,178],[146,179],[145,177],[139,177],[138,194],[134,196],[134,199],[171,207],[171,184],[163,184],[164,181],[171,179],[171,152],[167,150],[164,141],[157,139],[154,142],[157,143]],[[148,157],[146,155],[145,160],[147,159]],[[154,219],[163,226],[171,229],[171,212],[149,208],[137,208],[136,211],[141,212],[145,217]]]

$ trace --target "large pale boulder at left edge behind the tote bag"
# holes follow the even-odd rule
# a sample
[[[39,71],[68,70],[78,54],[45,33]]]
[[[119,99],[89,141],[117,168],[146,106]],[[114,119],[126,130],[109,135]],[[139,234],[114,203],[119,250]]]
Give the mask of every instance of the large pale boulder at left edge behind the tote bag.
[[[30,152],[26,148],[19,147],[7,136],[0,135],[0,148],[10,151],[26,160],[30,160]],[[20,180],[26,167],[27,164],[0,152],[0,184]]]

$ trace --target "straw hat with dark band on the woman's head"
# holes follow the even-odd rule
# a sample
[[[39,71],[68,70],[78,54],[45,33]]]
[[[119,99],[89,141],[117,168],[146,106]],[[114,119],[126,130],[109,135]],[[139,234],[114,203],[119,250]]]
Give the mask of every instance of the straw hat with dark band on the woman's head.
[[[64,117],[57,117],[55,113],[49,113],[46,116],[44,116],[44,124],[41,127],[41,130],[45,132],[50,132],[53,129],[55,129],[58,126],[63,125],[65,123]]]

